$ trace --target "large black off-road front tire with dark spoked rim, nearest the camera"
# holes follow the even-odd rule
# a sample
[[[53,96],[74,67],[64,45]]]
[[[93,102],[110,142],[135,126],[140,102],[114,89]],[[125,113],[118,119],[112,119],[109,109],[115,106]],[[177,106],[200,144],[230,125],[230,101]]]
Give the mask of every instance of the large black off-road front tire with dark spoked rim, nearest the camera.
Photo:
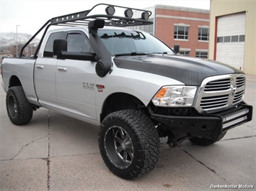
[[[102,121],[98,140],[105,164],[123,179],[133,180],[151,172],[158,162],[159,134],[149,117],[141,111],[110,113]]]

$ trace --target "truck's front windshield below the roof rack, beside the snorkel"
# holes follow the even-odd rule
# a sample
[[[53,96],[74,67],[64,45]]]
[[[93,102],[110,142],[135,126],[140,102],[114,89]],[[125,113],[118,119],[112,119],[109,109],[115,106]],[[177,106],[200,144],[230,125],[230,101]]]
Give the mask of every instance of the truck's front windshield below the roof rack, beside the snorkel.
[[[167,45],[146,32],[101,29],[98,34],[111,55],[175,54]]]

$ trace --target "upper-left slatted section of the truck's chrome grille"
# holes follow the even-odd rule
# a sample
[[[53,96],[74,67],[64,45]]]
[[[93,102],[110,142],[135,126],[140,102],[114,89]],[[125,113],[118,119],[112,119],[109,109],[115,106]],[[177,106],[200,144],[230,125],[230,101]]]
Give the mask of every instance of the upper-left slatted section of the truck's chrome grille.
[[[230,79],[215,80],[206,84],[204,91],[228,90],[230,88]]]

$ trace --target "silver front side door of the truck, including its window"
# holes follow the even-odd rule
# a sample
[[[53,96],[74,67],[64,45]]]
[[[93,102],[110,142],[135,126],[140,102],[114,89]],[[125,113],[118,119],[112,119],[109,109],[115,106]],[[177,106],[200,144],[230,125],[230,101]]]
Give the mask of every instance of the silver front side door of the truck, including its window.
[[[83,32],[69,32],[68,52],[93,52]],[[56,96],[58,108],[79,118],[96,119],[95,62],[58,60]]]

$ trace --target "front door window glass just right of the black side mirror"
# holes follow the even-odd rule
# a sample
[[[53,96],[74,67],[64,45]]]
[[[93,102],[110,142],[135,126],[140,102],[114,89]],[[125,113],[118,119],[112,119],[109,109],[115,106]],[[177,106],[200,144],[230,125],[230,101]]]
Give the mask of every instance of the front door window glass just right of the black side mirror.
[[[79,33],[68,34],[68,52],[93,52],[87,37]]]

